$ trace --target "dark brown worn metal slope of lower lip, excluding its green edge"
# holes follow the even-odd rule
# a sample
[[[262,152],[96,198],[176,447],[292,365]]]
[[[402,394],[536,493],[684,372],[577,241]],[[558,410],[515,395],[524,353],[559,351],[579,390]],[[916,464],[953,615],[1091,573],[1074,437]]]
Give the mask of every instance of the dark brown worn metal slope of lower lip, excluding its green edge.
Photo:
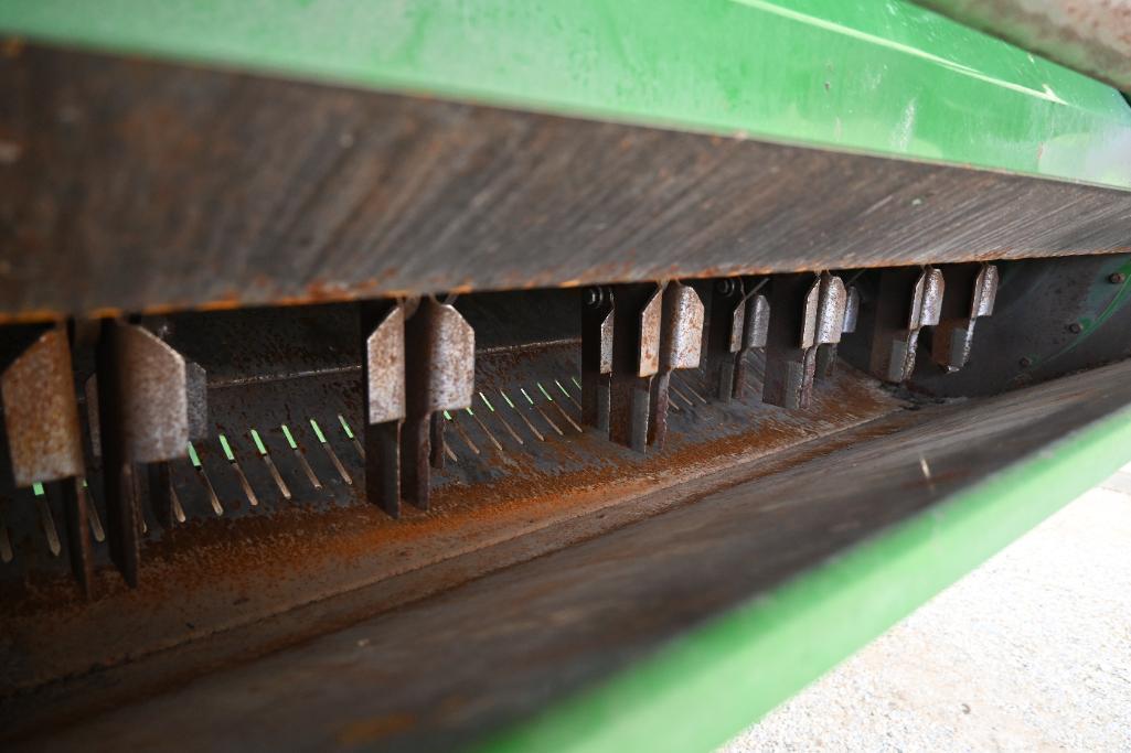
[[[43,736],[25,742],[58,750],[85,750],[92,739],[201,750],[233,709],[244,744],[467,745],[1123,408],[1129,372],[1121,364],[996,398],[900,412],[701,477],[664,492],[685,490],[693,501],[663,514],[258,661],[164,693],[153,689],[135,703],[118,700],[120,687],[100,687],[114,703],[77,725],[51,725],[34,696],[5,713],[27,713],[16,727],[24,730],[37,717]],[[150,673],[164,668],[159,660]],[[133,682],[141,669],[133,667]]]

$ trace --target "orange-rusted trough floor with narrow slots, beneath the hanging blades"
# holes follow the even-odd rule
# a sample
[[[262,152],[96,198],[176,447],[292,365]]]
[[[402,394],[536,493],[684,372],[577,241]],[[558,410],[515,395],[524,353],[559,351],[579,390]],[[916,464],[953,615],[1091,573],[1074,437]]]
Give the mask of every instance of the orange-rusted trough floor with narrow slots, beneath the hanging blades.
[[[489,398],[494,410],[476,397],[475,413],[482,415],[486,430],[466,412],[449,422],[451,426],[458,423],[480,452],[472,451],[457,433],[452,440],[457,460],[435,471],[431,511],[406,509],[399,521],[365,504],[356,487],[336,476],[325,453],[311,451],[316,445],[310,432],[299,429],[302,416],[316,417],[328,426],[337,414],[348,421],[362,415],[360,391],[349,389],[356,383],[356,372],[211,389],[210,407],[217,422],[214,431],[227,435],[259,504],[251,507],[244,499],[215,435],[198,442],[204,471],[224,503],[224,514],[211,513],[198,471],[188,461],[175,462],[175,487],[189,522],[164,535],[150,525],[141,540],[144,557],[136,589],[128,589],[110,570],[103,547],[98,548],[96,572],[101,598],[92,605],[76,601],[74,585],[64,572],[33,570],[0,583],[6,603],[14,605],[0,617],[14,639],[0,657],[0,686],[27,689],[80,673],[92,660],[114,665],[165,647],[188,646],[195,639],[580,516],[602,516],[593,521],[599,529],[623,520],[620,514],[610,514],[607,521],[603,517],[620,501],[794,447],[814,433],[838,432],[901,405],[861,374],[846,370],[818,397],[820,416],[794,416],[754,399],[726,406],[681,403],[683,409],[670,422],[665,452],[639,455],[611,444],[598,432],[581,432],[568,423],[566,416],[578,415],[572,399],[579,397],[579,390],[568,378],[576,369],[575,347],[560,346],[542,354],[500,352],[481,358],[476,390]],[[760,365],[752,371],[757,375]],[[703,391],[700,372],[675,374],[683,395]],[[558,389],[554,379],[562,387],[570,386],[572,399]],[[547,400],[537,388],[539,383],[554,389],[564,404]],[[534,405],[524,400],[521,389],[537,396]],[[508,406],[504,393],[512,398],[513,407]],[[676,395],[674,399],[683,398]],[[309,485],[278,430],[271,429],[280,418],[293,422],[294,438],[323,488]],[[563,433],[553,431],[547,419]],[[525,441],[517,442],[503,422],[521,432]],[[532,424],[542,427],[543,439],[534,435]],[[258,429],[293,500],[274,491],[261,456],[247,438],[249,426]],[[502,449],[490,442],[487,432],[499,439]],[[346,436],[326,433],[351,473],[360,468],[362,460]],[[645,512],[641,508],[631,514]],[[16,540],[18,563],[34,543],[25,536],[21,533]],[[550,539],[537,551],[566,540]],[[498,562],[485,556],[475,569],[502,566],[501,562],[511,562],[515,556],[528,556],[523,554],[523,545],[516,546],[513,555]],[[468,577],[459,572],[444,575],[441,583]],[[422,588],[439,587],[414,582],[416,586],[398,591],[389,605]],[[250,644],[260,641],[251,638]]]

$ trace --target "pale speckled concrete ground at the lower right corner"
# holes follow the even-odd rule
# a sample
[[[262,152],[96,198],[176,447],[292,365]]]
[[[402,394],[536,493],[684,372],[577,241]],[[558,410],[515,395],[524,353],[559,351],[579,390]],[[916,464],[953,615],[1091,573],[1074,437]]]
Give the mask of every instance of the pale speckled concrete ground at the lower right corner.
[[[722,750],[1131,751],[1131,466]]]

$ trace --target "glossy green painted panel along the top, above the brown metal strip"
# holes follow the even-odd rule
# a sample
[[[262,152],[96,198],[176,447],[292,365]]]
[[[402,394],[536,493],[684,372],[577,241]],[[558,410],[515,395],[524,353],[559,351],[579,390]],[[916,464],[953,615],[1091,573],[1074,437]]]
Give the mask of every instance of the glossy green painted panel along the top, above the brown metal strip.
[[[899,0],[6,0],[0,28],[1131,188],[1119,93]]]

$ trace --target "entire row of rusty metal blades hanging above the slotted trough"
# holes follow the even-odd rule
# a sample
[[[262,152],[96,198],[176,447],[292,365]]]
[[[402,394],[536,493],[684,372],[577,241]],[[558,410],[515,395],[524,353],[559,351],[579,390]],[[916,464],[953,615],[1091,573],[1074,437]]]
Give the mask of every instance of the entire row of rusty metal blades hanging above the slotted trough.
[[[676,369],[702,367],[713,398],[749,389],[745,354],[766,354],[761,399],[805,409],[828,376],[841,335],[857,328],[861,294],[849,274],[798,272],[593,287],[581,301],[582,419],[645,452],[664,445],[668,384]],[[993,310],[995,267],[960,263],[887,269],[871,311],[870,371],[910,376],[923,327],[932,358],[961,367],[974,322]],[[946,292],[946,295],[944,295]],[[402,501],[428,509],[430,468],[442,466],[444,410],[470,405],[475,334],[434,297],[360,306],[365,398],[365,494],[394,518]],[[88,425],[102,462],[110,555],[138,583],[141,504],[173,525],[169,464],[207,434],[204,370],[143,323],[105,320],[97,379],[87,383]],[[12,477],[63,496],[71,569],[94,583],[81,431],[62,324],[46,330],[0,376]]]

